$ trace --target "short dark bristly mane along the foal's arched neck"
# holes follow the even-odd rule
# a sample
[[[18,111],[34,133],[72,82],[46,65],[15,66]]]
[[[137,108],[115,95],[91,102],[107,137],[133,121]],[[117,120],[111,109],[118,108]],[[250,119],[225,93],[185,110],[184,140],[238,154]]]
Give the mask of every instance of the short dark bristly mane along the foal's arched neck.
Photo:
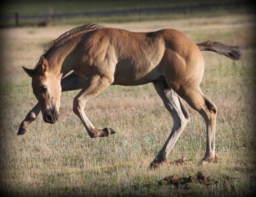
[[[44,50],[44,54],[41,55],[41,57],[38,61],[38,64],[35,67],[38,67],[41,64],[43,58],[45,58],[46,55],[49,53],[49,51],[54,49],[55,47],[60,46],[61,44],[69,41],[70,39],[72,39],[80,34],[90,32],[95,29],[100,29],[103,27],[104,26],[98,25],[98,24],[85,24],[85,25],[81,25],[81,26],[75,27],[73,29],[70,29],[69,31],[65,32],[64,34],[61,34],[57,39],[51,41],[48,49]]]

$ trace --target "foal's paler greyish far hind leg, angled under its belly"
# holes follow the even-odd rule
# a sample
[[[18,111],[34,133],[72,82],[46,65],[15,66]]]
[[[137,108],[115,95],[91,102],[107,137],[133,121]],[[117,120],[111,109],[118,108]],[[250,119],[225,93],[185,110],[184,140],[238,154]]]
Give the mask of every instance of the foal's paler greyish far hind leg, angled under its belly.
[[[173,127],[170,136],[166,143],[163,145],[161,151],[157,154],[157,157],[151,162],[149,168],[156,167],[161,162],[165,161],[170,151],[172,150],[175,142],[179,138],[186,124],[189,122],[189,113],[186,110],[180,97],[171,90],[166,81],[158,80],[154,84],[158,95],[163,100],[166,109],[171,113],[173,118]]]

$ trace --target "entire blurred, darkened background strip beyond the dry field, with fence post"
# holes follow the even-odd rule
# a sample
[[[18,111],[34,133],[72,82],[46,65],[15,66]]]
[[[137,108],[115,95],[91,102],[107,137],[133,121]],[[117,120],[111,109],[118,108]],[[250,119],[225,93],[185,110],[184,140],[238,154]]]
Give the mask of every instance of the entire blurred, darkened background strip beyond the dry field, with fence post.
[[[252,13],[244,0],[23,0],[2,3],[0,26],[120,23]]]

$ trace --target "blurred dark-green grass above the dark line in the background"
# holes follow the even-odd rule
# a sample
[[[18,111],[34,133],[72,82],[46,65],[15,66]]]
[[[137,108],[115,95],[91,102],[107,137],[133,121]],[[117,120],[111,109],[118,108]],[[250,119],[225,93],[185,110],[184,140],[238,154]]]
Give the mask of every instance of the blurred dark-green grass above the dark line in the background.
[[[19,12],[20,15],[33,15],[33,14],[52,14],[52,13],[72,13],[72,12],[86,12],[97,10],[113,10],[113,9],[132,9],[132,8],[155,8],[155,7],[173,7],[173,6],[188,6],[198,4],[212,4],[212,3],[235,3],[242,2],[241,0],[25,0],[25,1],[12,1],[3,4],[3,15],[12,15]]]

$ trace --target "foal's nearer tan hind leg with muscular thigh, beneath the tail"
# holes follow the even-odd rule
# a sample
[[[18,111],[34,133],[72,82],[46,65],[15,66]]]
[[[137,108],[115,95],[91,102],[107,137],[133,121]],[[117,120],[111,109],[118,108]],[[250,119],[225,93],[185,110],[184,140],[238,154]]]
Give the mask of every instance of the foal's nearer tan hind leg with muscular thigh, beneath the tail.
[[[207,133],[206,153],[201,161],[204,165],[215,159],[217,108],[199,87],[204,75],[202,54],[198,46],[189,40],[186,42],[186,46],[178,50],[179,53],[166,49],[162,71],[168,86],[204,118]]]

